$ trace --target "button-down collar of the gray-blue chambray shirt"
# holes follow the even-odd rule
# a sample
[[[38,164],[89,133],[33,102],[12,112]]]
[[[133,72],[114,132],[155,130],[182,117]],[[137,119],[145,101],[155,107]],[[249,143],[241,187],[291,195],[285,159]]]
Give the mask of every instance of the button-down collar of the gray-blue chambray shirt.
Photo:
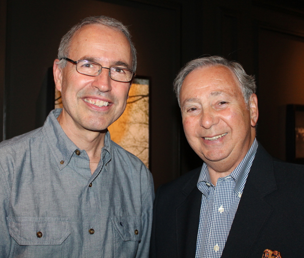
[[[74,155],[75,150],[79,150],[79,148],[70,140],[70,138],[67,137],[57,120],[57,117],[60,115],[61,111],[62,108],[52,110],[47,116],[42,128],[43,135],[47,140],[50,151],[52,152],[60,170],[67,166],[71,160],[71,157]],[[106,162],[109,162],[111,159],[111,146],[112,141],[108,131],[105,134],[105,144],[101,152],[101,159],[105,157],[106,152],[109,152],[110,156]],[[80,152],[82,153],[84,150],[80,150]]]

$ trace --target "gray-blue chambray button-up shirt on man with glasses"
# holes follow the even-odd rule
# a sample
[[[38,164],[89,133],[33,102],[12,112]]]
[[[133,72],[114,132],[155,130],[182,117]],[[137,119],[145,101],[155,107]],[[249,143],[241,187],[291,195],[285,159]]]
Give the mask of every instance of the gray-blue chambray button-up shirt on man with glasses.
[[[87,153],[57,122],[60,112],[0,143],[0,257],[147,258],[151,173],[107,132],[91,175]]]

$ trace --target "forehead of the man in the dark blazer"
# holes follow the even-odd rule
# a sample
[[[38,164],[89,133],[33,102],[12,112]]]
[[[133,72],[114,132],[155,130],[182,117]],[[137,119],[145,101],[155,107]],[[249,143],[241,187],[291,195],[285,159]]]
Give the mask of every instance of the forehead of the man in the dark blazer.
[[[212,94],[241,92],[237,79],[232,71],[225,66],[210,66],[198,68],[189,73],[181,86],[181,96],[191,94]],[[193,96],[195,97],[195,96]]]

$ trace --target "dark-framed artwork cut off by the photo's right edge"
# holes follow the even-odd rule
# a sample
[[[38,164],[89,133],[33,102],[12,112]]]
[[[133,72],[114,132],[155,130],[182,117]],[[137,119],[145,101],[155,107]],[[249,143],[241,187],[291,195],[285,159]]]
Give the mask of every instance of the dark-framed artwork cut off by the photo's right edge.
[[[304,164],[304,105],[287,105],[286,160]]]

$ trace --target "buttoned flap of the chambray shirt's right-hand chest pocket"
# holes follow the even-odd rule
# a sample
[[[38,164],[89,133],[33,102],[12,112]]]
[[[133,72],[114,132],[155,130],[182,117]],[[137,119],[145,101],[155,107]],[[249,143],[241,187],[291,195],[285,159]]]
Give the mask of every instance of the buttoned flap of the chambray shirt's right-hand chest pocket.
[[[140,217],[116,217],[112,216],[112,223],[123,241],[140,241],[141,218]]]

